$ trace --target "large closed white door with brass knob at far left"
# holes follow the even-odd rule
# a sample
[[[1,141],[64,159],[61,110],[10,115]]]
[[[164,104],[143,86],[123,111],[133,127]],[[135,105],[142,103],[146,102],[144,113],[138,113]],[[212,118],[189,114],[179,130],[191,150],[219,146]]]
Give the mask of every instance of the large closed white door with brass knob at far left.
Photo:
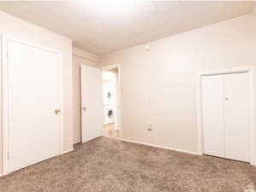
[[[60,154],[61,63],[58,54],[8,41],[4,112],[9,124],[5,172]]]

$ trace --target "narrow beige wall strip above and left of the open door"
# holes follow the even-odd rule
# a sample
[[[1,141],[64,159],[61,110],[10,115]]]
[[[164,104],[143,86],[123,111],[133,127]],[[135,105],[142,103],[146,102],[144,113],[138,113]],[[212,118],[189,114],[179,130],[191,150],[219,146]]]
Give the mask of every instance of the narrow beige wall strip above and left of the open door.
[[[99,67],[98,56],[80,49],[73,49],[73,104],[74,104],[74,143],[80,142],[80,65]]]

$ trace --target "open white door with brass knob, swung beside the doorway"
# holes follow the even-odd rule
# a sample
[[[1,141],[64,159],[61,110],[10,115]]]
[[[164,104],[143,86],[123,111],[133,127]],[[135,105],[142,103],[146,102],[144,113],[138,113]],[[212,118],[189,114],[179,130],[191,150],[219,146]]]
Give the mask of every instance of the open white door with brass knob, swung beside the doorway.
[[[101,70],[80,67],[81,90],[81,142],[103,135],[103,96]]]

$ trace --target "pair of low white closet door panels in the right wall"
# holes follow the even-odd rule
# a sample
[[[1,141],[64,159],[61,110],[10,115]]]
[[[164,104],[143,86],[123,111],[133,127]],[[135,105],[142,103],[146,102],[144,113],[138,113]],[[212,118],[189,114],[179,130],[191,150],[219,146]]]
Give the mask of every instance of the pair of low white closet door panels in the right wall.
[[[204,153],[249,161],[249,75],[202,78]]]

